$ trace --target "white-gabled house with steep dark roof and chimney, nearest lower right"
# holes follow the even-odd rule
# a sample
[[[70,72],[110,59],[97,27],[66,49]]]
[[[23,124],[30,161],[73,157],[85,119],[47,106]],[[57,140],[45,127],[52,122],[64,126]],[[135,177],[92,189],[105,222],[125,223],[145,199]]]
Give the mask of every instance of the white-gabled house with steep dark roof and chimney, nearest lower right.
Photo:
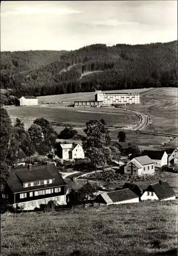
[[[150,184],[141,196],[141,200],[175,200],[175,192],[166,180]]]

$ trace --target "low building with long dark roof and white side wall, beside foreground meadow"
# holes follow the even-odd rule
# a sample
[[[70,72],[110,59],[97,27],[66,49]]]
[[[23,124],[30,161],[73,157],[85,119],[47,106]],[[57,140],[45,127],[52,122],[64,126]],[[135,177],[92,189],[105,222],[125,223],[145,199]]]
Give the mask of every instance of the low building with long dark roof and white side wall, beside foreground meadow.
[[[95,204],[98,205],[127,204],[138,202],[139,196],[137,196],[128,188],[101,193],[95,199]]]

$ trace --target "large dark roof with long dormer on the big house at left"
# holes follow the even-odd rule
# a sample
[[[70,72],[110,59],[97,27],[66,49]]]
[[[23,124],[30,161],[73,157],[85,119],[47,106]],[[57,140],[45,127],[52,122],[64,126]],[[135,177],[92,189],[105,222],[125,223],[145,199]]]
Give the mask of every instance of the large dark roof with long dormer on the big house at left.
[[[54,179],[54,183],[23,187],[23,183],[46,179]],[[32,170],[29,170],[27,167],[12,168],[7,184],[13,193],[66,185],[54,163],[51,163],[49,166],[46,164],[32,165]]]

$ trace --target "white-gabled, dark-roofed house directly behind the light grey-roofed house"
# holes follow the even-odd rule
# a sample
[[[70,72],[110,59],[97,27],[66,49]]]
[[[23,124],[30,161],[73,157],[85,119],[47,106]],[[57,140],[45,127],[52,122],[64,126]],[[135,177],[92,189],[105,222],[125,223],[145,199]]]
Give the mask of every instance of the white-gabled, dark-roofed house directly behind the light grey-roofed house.
[[[148,156],[155,162],[155,167],[162,167],[167,165],[168,155],[166,151],[153,151],[153,150],[144,150],[143,156]]]

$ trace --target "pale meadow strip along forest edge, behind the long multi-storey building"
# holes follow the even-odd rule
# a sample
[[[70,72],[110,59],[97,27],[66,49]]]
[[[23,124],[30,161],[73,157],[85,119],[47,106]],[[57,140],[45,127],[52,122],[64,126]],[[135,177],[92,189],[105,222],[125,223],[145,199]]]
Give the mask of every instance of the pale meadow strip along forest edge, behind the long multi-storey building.
[[[150,88],[142,88],[142,89],[132,89],[132,90],[115,90],[115,91],[103,91],[104,93],[133,93],[133,92],[146,92],[149,91]],[[88,93],[72,93],[72,94],[60,94],[60,95],[49,95],[49,96],[39,96],[38,104],[47,103],[47,102],[74,102],[77,100],[95,100],[96,92],[88,92]]]

